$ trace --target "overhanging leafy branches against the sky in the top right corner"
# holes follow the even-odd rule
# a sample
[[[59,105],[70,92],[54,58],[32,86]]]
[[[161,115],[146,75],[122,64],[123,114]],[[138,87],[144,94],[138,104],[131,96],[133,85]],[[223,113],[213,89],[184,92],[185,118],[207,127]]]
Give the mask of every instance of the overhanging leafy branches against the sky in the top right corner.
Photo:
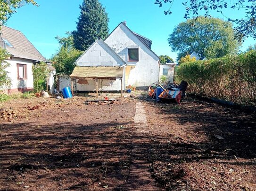
[[[233,18],[228,18],[236,24],[236,37],[241,41],[244,37],[251,36],[256,39],[256,0],[155,0],[155,4],[162,7],[163,4],[169,3],[168,10],[165,10],[165,15],[171,15],[175,9],[173,9],[173,3],[178,2],[184,6],[186,13],[184,15],[185,19],[190,17],[198,17],[199,14],[204,14],[204,16],[210,16],[211,12],[218,12],[224,17],[225,10],[230,9],[239,11],[239,13],[244,13],[245,16],[237,17],[238,14],[234,12]],[[173,12],[172,12],[173,11]]]

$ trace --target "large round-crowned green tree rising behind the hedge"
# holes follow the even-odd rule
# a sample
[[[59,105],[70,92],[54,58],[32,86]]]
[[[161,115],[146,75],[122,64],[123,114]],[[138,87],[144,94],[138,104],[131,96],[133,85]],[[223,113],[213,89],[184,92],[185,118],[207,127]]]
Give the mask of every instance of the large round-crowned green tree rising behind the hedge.
[[[239,49],[232,23],[204,16],[180,23],[168,42],[172,50],[178,52],[179,58],[192,51],[207,59],[220,58],[237,53]]]

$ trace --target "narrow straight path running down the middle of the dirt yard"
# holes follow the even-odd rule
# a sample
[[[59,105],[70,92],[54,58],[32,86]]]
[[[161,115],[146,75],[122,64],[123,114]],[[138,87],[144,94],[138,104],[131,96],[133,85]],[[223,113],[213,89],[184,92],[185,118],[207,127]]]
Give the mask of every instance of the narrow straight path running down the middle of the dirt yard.
[[[157,187],[154,186],[155,181],[149,173],[149,162],[147,162],[147,160],[143,160],[141,157],[142,153],[142,155],[146,153],[143,147],[140,146],[141,140],[139,137],[141,136],[141,133],[148,133],[148,124],[143,103],[140,101],[136,102],[134,129],[131,146],[132,163],[129,172],[129,179],[124,185],[124,189],[128,191],[157,191]],[[149,144],[149,137],[145,136],[143,142],[143,144]]]

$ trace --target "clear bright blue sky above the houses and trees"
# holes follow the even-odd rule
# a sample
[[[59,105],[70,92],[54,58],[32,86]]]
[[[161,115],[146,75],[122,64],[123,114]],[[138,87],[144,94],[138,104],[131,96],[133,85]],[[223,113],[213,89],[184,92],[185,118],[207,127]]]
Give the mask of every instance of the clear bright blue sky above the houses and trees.
[[[7,26],[22,31],[33,45],[47,59],[58,50],[56,36],[65,36],[66,31],[76,29],[79,16],[79,5],[83,0],[36,0],[39,7],[26,5],[17,9],[17,13],[6,23]],[[176,0],[172,7],[173,15],[164,15],[164,10],[158,8],[155,0],[100,0],[106,8],[109,17],[110,32],[122,21],[127,26],[153,41],[152,50],[157,55],[167,54],[175,60],[177,53],[172,52],[167,38],[173,29],[183,19],[185,9],[181,0]],[[225,10],[225,15],[233,18],[244,16],[244,11]],[[215,17],[224,18],[213,12]],[[256,44],[256,40],[248,38],[241,51],[249,45]]]

